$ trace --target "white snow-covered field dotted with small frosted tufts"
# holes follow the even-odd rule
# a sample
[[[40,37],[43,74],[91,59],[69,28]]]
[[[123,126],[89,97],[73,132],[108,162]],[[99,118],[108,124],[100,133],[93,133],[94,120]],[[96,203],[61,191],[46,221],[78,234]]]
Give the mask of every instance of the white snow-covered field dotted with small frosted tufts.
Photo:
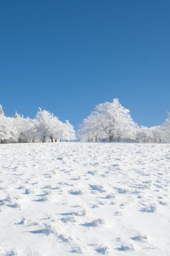
[[[0,255],[170,255],[170,145],[0,145]]]

